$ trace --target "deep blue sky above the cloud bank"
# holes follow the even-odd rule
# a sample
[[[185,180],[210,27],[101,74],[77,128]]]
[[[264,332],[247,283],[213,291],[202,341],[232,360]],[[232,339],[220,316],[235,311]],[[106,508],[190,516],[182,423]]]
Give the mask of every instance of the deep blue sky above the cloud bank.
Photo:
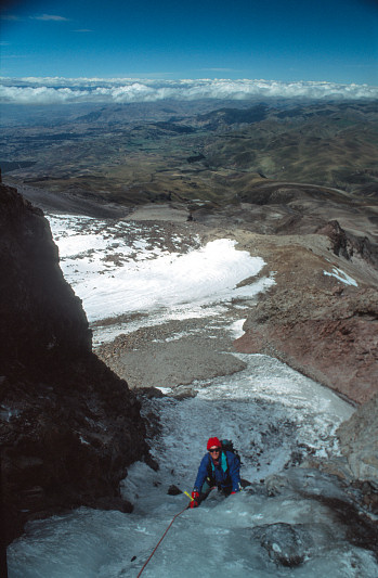
[[[378,86],[374,0],[40,0],[2,9],[5,77]]]

